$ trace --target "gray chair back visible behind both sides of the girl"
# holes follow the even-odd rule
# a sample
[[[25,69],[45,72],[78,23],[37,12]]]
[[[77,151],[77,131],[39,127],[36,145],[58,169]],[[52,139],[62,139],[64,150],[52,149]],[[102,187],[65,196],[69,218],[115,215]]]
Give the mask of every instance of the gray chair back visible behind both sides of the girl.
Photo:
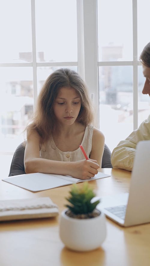
[[[22,142],[14,152],[13,159],[10,165],[9,177],[19,174],[26,174],[24,167],[24,153],[25,145]],[[104,153],[102,158],[102,168],[113,168],[110,162],[111,151],[108,146],[105,144]]]

